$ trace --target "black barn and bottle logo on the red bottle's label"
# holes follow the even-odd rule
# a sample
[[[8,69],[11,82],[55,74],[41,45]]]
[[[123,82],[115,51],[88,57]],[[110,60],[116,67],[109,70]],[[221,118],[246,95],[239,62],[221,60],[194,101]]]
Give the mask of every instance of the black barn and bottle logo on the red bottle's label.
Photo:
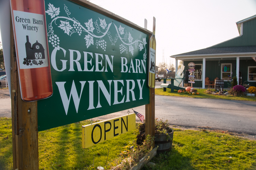
[[[25,43],[25,47],[27,57],[24,58],[23,64],[27,66],[46,64],[46,62],[43,62],[43,59],[45,59],[45,49],[42,44],[36,41],[36,43],[34,43],[31,47],[28,35],[26,38],[27,42]]]

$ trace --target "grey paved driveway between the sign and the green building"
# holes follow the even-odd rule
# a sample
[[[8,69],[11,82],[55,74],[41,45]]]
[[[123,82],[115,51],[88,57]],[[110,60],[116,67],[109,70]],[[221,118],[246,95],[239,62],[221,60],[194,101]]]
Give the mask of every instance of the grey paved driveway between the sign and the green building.
[[[0,98],[0,105],[0,116],[11,117],[10,98]],[[145,106],[133,109],[145,114]],[[208,126],[256,135],[256,102],[156,95],[155,109],[155,117],[167,119],[172,125]],[[127,110],[94,119],[110,119],[125,114]]]

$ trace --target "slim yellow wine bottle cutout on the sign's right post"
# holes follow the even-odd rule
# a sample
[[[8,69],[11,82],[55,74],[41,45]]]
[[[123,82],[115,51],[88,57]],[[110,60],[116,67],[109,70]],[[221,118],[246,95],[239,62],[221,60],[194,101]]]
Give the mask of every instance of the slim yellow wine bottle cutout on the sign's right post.
[[[153,33],[150,37],[150,60],[149,60],[149,72],[148,72],[148,87],[155,88],[155,74],[156,74],[156,18],[153,17]]]

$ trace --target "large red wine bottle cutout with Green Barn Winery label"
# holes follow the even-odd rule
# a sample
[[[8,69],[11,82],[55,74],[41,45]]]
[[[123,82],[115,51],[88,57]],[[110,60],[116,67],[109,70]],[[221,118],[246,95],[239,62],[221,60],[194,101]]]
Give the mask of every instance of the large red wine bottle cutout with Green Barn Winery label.
[[[44,0],[11,0],[21,97],[26,102],[53,94]]]

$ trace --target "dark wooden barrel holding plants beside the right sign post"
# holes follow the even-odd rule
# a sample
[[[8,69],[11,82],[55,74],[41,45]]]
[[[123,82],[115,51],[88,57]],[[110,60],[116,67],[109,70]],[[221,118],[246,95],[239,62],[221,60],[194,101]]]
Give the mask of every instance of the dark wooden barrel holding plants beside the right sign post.
[[[158,146],[157,153],[170,151],[172,149],[173,130],[168,135],[170,136],[168,140],[166,134],[155,135],[155,147]]]

